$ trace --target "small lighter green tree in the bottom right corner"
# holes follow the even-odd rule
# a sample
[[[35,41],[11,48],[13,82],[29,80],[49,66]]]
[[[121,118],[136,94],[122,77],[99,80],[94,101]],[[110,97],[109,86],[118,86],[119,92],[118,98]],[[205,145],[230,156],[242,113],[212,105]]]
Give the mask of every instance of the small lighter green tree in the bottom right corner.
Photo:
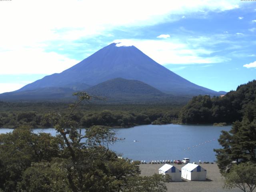
[[[256,164],[248,162],[233,166],[224,177],[224,188],[238,187],[244,192],[252,192],[256,188]]]

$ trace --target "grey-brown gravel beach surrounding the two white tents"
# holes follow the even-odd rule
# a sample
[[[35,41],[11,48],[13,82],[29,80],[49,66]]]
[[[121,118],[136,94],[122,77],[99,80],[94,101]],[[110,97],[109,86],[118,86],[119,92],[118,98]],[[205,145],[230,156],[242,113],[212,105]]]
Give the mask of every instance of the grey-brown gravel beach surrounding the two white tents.
[[[154,173],[158,174],[158,169],[163,165],[164,164],[140,164],[141,175],[150,176]],[[184,166],[184,164],[171,165],[176,166],[179,170]],[[231,190],[222,188],[224,179],[219,172],[217,164],[200,164],[200,166],[207,170],[206,181],[182,180],[182,182],[170,182],[166,184],[168,192],[241,192],[239,188]]]

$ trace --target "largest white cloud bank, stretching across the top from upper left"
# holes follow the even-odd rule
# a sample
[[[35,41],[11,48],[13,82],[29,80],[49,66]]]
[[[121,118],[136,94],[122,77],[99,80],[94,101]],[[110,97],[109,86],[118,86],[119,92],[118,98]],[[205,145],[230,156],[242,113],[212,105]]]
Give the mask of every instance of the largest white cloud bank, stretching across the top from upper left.
[[[162,6],[165,5],[165,6]],[[56,39],[79,39],[116,26],[154,25],[177,20],[177,14],[225,11],[238,8],[232,1],[146,0],[22,0],[1,4],[1,37],[4,42],[31,44]],[[7,17],[8,16],[8,17]]]

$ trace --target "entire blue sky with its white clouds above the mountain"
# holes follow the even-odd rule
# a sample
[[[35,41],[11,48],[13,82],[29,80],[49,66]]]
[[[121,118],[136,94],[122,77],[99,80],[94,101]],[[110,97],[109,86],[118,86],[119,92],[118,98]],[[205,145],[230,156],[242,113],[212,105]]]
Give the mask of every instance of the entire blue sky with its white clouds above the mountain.
[[[256,79],[256,1],[0,1],[0,93],[134,45],[216,91]]]

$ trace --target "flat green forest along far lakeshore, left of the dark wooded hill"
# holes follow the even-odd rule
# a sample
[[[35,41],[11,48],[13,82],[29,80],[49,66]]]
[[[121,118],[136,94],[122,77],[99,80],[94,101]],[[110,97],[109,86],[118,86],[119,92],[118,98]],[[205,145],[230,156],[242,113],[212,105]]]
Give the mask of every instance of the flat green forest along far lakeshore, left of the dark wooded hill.
[[[168,124],[178,122],[181,104],[92,104],[80,106],[72,115],[80,127],[104,125],[130,127],[142,124]],[[0,102],[0,127],[17,128],[29,125],[47,128],[53,125],[47,114],[68,114],[68,104],[58,102]]]

